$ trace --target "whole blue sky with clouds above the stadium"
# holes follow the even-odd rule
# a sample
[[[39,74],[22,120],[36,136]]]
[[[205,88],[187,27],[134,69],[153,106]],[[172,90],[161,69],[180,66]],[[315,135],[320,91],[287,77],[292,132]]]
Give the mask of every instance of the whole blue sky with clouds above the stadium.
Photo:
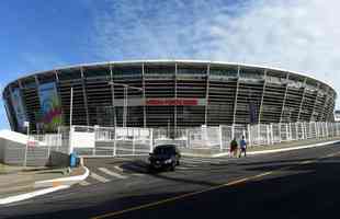
[[[65,65],[178,58],[303,71],[339,92],[339,8],[337,0],[3,0],[0,88]]]

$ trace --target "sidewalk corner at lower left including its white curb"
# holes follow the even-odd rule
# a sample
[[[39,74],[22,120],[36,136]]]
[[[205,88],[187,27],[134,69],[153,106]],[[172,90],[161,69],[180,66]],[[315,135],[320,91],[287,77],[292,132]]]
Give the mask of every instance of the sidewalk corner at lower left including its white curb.
[[[88,176],[84,166],[72,169],[21,168],[0,164],[0,205],[68,188]]]

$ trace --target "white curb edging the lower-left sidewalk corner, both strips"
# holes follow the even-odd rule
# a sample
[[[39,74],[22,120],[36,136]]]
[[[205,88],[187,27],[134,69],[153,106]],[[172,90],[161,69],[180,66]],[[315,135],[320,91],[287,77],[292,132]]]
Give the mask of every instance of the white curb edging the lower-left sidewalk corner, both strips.
[[[90,174],[89,169],[87,166],[83,166],[83,168],[86,172],[82,175],[60,177],[60,178],[54,178],[54,180],[48,180],[48,181],[37,181],[34,183],[34,187],[47,187],[47,188],[34,191],[31,193],[20,194],[15,196],[10,196],[5,198],[0,198],[0,205],[7,205],[11,203],[26,200],[26,199],[37,197],[41,195],[46,195],[48,193],[54,193],[60,189],[69,188],[72,184],[83,181],[89,176]]]

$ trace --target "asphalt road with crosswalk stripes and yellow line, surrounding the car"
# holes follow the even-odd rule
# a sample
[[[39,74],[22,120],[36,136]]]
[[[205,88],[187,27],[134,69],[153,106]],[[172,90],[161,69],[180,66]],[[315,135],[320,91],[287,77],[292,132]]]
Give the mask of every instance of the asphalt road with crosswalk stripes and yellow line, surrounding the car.
[[[88,159],[82,185],[0,207],[0,218],[339,218],[340,145],[241,159]]]

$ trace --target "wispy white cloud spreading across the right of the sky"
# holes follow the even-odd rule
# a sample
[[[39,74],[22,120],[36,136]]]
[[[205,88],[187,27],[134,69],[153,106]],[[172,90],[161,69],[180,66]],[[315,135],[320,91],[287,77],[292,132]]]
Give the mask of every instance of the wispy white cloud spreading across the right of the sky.
[[[340,93],[340,1],[122,2],[95,11],[93,41],[102,58],[265,65],[306,72]]]

